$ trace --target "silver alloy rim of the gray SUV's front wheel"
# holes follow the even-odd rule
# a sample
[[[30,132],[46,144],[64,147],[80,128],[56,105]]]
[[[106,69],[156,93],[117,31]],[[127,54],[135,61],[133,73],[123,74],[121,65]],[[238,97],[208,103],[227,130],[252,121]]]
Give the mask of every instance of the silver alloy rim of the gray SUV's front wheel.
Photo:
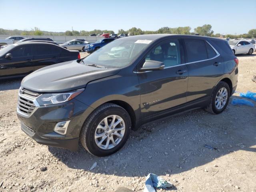
[[[124,133],[124,120],[118,115],[110,115],[100,121],[95,130],[94,139],[99,148],[108,150],[121,142]]]

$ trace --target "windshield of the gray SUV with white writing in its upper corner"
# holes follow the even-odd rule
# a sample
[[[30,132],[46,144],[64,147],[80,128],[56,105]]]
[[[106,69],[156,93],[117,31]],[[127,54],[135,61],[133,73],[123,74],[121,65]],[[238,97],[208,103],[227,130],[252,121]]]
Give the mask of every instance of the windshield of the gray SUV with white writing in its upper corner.
[[[106,68],[121,68],[129,65],[151,42],[129,38],[114,40],[84,58],[84,63]]]

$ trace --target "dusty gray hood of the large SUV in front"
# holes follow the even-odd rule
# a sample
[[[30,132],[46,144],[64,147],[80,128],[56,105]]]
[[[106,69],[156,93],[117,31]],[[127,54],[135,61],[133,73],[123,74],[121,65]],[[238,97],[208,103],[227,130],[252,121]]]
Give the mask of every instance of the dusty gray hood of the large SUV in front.
[[[74,60],[36,70],[22,80],[21,86],[35,92],[66,92],[84,88],[90,81],[112,76],[119,71],[87,66]]]

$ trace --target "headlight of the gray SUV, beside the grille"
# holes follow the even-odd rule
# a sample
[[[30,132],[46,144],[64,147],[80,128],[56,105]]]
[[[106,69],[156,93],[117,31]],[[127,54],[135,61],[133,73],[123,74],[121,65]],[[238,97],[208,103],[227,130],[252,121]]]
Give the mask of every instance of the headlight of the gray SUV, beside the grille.
[[[72,100],[83,91],[84,89],[79,89],[68,93],[46,93],[40,95],[38,98],[36,98],[36,100],[40,106],[53,105]]]

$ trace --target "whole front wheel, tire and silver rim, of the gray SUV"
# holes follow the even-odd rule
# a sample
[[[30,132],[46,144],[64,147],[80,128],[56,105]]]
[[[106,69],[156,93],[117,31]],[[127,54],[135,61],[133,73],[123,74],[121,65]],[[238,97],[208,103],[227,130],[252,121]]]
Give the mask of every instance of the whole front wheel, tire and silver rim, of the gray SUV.
[[[80,141],[91,154],[108,156],[124,146],[130,130],[131,119],[128,112],[121,106],[106,103],[84,122]]]

